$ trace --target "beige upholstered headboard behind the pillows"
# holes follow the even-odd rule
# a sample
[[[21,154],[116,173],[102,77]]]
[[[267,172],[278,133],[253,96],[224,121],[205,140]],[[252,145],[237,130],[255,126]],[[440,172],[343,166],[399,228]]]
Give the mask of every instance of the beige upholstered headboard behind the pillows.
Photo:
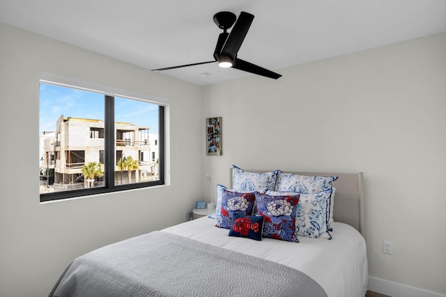
[[[247,170],[249,172],[271,172],[272,170]],[[334,195],[333,220],[351,225],[365,237],[364,220],[364,174],[340,174],[326,172],[286,172],[305,176],[338,176],[333,182]],[[232,186],[232,170],[231,170]]]

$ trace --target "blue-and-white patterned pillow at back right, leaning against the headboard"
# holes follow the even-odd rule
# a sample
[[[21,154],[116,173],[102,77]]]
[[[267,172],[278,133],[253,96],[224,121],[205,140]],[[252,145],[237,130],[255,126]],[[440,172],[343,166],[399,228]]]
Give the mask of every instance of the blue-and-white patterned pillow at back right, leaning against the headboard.
[[[337,176],[304,176],[279,172],[277,192],[312,194],[331,190]]]

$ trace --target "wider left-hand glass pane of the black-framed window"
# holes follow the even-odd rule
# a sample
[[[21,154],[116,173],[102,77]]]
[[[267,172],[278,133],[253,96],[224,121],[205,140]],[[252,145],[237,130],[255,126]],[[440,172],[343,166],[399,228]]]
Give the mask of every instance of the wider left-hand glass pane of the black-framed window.
[[[102,94],[40,83],[41,194],[104,186],[104,108]]]

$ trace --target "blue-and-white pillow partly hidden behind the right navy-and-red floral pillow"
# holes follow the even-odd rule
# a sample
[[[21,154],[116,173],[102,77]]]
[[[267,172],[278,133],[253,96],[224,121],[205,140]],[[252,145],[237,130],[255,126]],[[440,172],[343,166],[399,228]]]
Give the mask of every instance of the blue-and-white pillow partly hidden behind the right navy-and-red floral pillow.
[[[297,195],[295,192],[266,191],[266,195]],[[332,191],[300,194],[295,218],[296,234],[312,238],[331,239],[333,231],[328,223],[328,208]]]

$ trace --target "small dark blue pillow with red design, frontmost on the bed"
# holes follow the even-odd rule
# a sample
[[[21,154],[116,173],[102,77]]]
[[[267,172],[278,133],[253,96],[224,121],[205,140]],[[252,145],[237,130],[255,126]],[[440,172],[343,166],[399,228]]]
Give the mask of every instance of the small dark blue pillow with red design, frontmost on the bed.
[[[263,217],[261,215],[234,214],[229,236],[246,237],[255,241],[262,240]]]

